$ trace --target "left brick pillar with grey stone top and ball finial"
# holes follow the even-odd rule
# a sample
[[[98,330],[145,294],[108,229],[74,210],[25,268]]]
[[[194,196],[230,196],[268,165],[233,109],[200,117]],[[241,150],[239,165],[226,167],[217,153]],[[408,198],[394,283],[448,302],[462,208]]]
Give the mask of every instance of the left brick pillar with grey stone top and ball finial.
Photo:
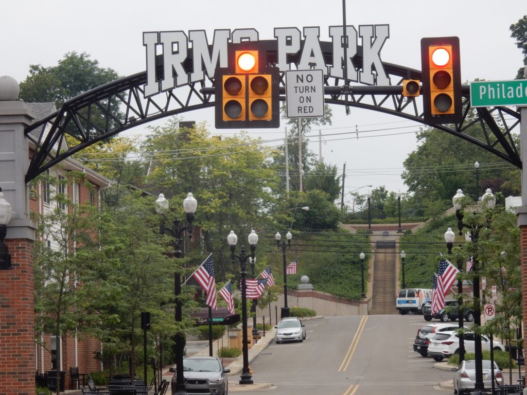
[[[29,160],[24,129],[34,117],[17,101],[18,91],[13,78],[0,77],[0,187],[13,209],[5,239],[12,268],[0,270],[0,395],[35,394],[35,224],[24,181]]]

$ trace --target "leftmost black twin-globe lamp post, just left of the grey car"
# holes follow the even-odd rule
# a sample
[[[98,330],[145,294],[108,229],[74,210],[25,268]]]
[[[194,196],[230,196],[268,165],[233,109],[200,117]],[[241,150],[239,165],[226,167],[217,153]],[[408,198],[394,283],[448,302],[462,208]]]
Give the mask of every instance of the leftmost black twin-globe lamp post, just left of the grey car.
[[[165,216],[169,210],[168,200],[165,199],[162,193],[159,194],[155,201],[158,214],[161,214],[161,223],[159,225],[159,233],[164,235],[169,233],[173,238],[173,254],[175,258],[183,258],[181,251],[181,241],[184,231],[187,231],[189,238],[192,238],[192,222],[194,221],[194,213],[198,208],[198,201],[194,199],[192,193],[189,192],[185,200],[183,200],[183,210],[187,213],[187,226],[182,226],[179,220],[173,220],[172,228],[165,226]],[[178,322],[180,330],[175,334],[175,377],[176,377],[176,391],[178,395],[186,394],[185,378],[183,376],[183,354],[185,347],[185,333],[181,329],[181,322],[183,321],[182,307],[181,307],[181,274],[179,271],[174,272],[174,296],[175,296],[175,321]]]

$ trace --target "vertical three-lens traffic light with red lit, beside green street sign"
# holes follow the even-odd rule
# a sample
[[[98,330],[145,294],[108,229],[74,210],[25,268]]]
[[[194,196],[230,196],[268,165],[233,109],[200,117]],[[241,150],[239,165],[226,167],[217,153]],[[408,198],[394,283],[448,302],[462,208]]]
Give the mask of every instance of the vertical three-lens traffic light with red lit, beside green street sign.
[[[423,116],[430,124],[462,120],[461,63],[458,37],[421,39]]]

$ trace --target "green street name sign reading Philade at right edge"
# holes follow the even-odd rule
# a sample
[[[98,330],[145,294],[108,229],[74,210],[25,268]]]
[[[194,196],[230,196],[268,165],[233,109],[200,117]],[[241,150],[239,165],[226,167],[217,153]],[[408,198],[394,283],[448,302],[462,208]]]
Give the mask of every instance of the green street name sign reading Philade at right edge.
[[[527,105],[527,80],[474,81],[470,83],[470,105],[492,107]]]

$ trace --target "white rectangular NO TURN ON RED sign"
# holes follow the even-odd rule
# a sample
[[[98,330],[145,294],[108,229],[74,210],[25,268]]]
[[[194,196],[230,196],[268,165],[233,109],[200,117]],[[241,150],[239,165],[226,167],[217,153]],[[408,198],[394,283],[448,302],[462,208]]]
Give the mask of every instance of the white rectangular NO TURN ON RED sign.
[[[288,118],[324,116],[324,73],[322,70],[286,71]]]

